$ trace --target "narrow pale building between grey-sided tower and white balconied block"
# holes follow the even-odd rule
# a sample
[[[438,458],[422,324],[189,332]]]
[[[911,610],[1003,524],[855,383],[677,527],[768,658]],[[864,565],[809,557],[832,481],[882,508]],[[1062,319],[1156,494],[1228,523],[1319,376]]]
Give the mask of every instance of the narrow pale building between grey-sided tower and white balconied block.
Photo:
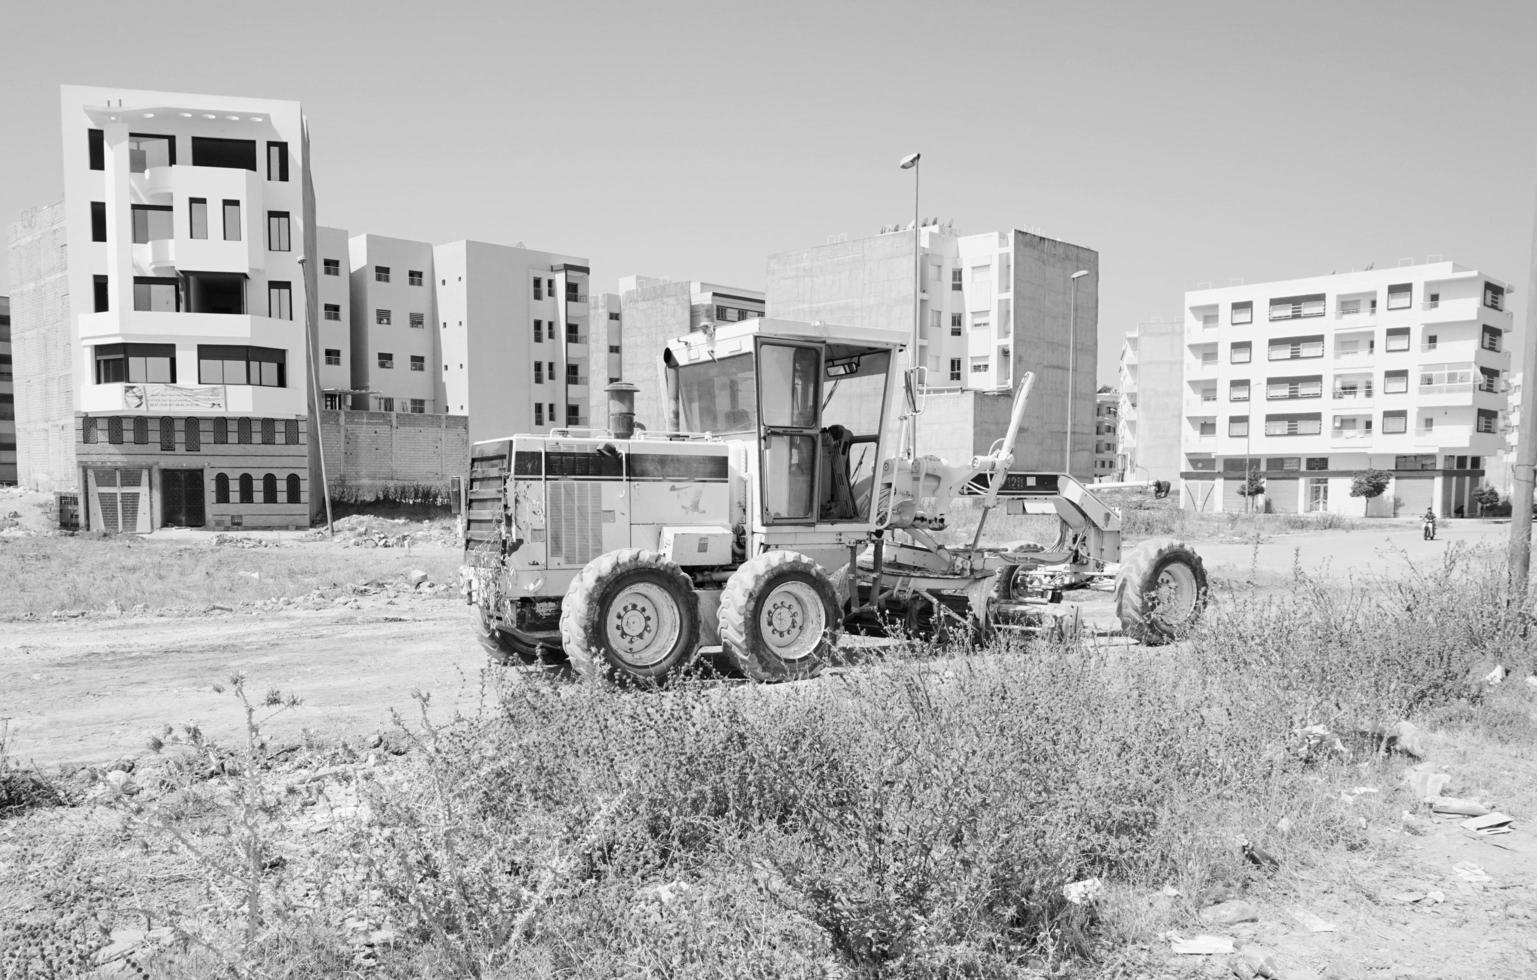
[[[1122,341],[1116,455],[1124,479],[1179,485],[1183,372],[1183,319],[1144,319]]]

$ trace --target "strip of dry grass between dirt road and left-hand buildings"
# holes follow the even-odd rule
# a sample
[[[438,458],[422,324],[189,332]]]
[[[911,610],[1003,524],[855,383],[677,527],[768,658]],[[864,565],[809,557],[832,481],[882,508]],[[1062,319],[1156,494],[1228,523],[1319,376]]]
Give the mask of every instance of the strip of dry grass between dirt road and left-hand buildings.
[[[214,541],[0,538],[0,567],[12,570],[0,590],[0,621],[103,610],[112,602],[121,610],[203,610],[398,578],[412,568],[435,582],[453,582],[460,561],[452,548],[341,548],[323,541],[220,547]]]

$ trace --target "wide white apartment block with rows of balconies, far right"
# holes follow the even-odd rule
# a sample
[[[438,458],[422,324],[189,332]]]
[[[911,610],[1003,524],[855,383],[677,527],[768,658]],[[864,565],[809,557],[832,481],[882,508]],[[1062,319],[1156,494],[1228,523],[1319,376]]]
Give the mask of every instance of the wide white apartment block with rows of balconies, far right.
[[[1185,293],[1187,505],[1362,513],[1356,475],[1391,470],[1373,513],[1472,512],[1502,449],[1509,284],[1437,261]],[[1147,390],[1147,386],[1142,386]]]

